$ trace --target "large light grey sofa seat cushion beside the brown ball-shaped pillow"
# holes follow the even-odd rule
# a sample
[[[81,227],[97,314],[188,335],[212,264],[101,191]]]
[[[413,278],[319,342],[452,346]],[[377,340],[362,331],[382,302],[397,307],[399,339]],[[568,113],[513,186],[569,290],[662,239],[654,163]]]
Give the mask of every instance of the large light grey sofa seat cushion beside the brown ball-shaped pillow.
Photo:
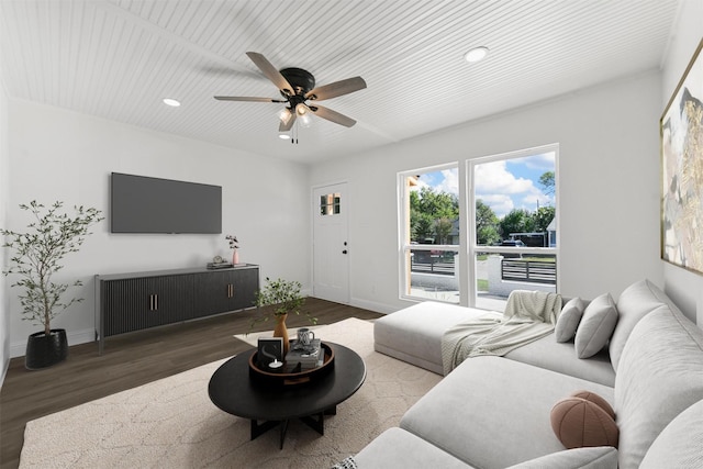
[[[549,411],[579,389],[612,402],[613,389],[605,386],[502,357],[470,358],[421,398],[400,426],[471,466],[504,468],[563,450]]]

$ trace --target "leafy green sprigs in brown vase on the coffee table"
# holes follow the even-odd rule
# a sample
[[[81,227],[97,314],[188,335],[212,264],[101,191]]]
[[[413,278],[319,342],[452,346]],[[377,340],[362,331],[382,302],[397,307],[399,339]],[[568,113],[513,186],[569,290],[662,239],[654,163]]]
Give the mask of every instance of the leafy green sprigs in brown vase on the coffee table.
[[[252,327],[257,323],[268,321],[271,316],[276,320],[274,337],[283,338],[283,355],[288,353],[288,328],[286,319],[289,314],[300,314],[300,310],[305,304],[305,299],[300,294],[301,284],[295,280],[266,278],[266,284],[256,292],[254,304],[259,308],[267,308],[263,314],[252,320]],[[317,319],[305,313],[312,324],[317,324]]]

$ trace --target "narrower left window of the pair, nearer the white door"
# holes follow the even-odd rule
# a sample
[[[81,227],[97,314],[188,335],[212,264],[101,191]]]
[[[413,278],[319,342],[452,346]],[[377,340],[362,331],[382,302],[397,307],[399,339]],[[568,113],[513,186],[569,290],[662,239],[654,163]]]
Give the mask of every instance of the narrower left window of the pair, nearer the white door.
[[[459,303],[456,164],[399,175],[401,298]]]

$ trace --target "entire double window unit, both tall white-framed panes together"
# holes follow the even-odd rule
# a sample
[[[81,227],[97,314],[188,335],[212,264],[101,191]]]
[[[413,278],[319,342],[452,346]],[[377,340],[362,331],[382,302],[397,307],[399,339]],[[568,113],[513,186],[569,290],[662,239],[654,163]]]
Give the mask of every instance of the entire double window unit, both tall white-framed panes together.
[[[554,144],[399,174],[400,297],[504,311],[513,290],[558,291],[558,158]]]

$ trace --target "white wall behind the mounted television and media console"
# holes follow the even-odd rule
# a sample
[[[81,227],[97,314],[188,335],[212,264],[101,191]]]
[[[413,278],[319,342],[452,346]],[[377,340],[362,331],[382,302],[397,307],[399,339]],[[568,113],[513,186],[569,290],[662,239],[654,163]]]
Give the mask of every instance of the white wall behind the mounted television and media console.
[[[222,235],[110,234],[109,221],[93,230],[70,255],[56,280],[79,278],[86,301],[62,313],[53,327],[68,331],[69,343],[92,340],[93,276],[204,266],[230,256],[224,235],[237,235],[241,261],[261,266],[261,279],[284,277],[309,288],[310,192],[305,166],[159,134],[57,108],[10,100],[10,183],[8,223],[26,225],[19,203],[96,206],[109,215],[110,172],[127,172],[222,186]],[[274,137],[276,135],[274,134]],[[21,320],[10,289],[11,355],[24,355],[36,332]]]

